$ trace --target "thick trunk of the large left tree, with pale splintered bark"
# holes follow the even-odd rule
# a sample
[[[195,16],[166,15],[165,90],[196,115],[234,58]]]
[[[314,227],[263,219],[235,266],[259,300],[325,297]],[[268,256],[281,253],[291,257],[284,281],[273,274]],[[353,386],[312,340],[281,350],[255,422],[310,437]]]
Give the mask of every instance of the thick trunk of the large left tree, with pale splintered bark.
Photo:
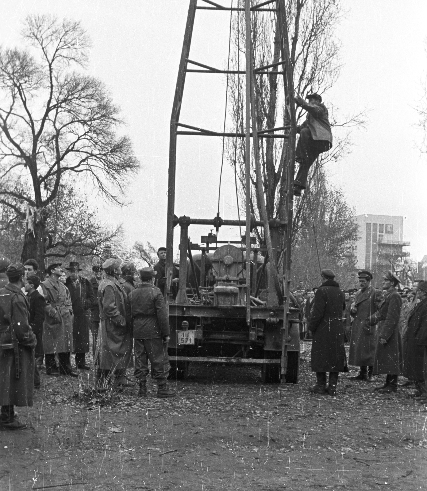
[[[27,221],[27,230],[22,247],[21,261],[35,259],[39,265],[40,279],[44,278],[45,273],[45,242],[46,242],[46,221],[47,214],[34,211],[32,227]]]

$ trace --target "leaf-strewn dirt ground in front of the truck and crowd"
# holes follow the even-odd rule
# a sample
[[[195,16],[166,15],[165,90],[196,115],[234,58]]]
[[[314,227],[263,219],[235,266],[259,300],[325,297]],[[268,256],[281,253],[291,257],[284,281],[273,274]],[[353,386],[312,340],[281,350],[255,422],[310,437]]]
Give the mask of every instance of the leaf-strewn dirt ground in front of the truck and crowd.
[[[81,373],[42,375],[34,406],[17,408],[29,429],[0,432],[0,490],[427,487],[427,412],[413,388],[380,395],[350,372],[336,398],[316,397],[309,351],[296,385],[193,364],[168,400],[150,383],[148,399],[135,386],[106,402],[88,395],[92,374]]]

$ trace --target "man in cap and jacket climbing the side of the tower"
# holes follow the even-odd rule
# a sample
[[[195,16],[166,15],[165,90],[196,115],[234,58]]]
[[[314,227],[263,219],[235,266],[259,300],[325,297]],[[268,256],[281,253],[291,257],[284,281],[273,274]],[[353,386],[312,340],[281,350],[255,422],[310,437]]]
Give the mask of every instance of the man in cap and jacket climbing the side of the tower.
[[[307,187],[308,171],[322,152],[332,148],[332,133],[329,124],[328,110],[322,104],[319,94],[308,94],[308,103],[301,97],[295,97],[295,104],[307,111],[307,118],[296,127],[299,133],[295,150],[295,162],[299,163],[298,173],[294,180],[294,196],[301,196]]]

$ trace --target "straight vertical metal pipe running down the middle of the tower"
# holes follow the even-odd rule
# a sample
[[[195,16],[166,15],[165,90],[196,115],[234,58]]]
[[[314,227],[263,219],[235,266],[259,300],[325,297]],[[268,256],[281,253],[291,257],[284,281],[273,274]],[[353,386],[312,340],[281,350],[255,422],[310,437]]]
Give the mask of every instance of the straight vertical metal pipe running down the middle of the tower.
[[[250,210],[250,100],[251,100],[251,18],[250,18],[250,0],[244,2],[245,27],[246,27],[246,121],[245,121],[245,201],[246,201],[246,324],[251,323],[251,210]]]

